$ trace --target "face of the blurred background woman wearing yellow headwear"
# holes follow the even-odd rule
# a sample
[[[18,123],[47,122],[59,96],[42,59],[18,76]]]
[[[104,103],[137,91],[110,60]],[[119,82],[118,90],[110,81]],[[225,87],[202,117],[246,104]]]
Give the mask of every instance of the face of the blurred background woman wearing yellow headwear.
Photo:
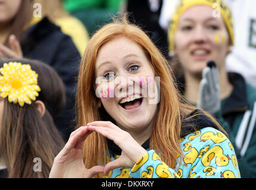
[[[212,9],[196,5],[181,15],[175,32],[175,54],[186,74],[201,74],[208,61],[224,67],[229,52],[229,34],[223,18],[213,17]]]

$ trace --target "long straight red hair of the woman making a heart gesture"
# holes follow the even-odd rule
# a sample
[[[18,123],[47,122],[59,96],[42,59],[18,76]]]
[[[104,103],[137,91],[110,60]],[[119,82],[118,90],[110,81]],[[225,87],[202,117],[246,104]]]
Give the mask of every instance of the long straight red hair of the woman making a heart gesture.
[[[76,99],[77,128],[88,122],[107,119],[111,120],[103,106],[98,106],[100,99],[95,96],[95,61],[101,46],[116,37],[127,37],[137,43],[143,50],[156,76],[160,76],[160,102],[156,115],[153,132],[150,137],[150,148],[161,154],[161,159],[170,167],[175,166],[175,159],[181,155],[179,145],[181,133],[181,115],[187,115],[195,107],[184,105],[180,101],[180,94],[169,72],[168,62],[151,42],[143,30],[129,24],[127,16],[114,18],[113,23],[102,27],[92,36],[85,49],[78,77],[78,91]],[[107,115],[107,117],[106,117]],[[160,138],[159,138],[160,137]],[[90,168],[107,163],[106,139],[97,133],[92,133],[85,140],[84,161]],[[98,175],[97,177],[102,177]]]

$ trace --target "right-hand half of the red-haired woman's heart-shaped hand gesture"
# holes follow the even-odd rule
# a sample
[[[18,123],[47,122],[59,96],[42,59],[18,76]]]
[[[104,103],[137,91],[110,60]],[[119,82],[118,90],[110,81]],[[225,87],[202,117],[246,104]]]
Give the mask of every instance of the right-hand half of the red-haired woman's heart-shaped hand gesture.
[[[133,167],[147,153],[128,132],[120,129],[110,121],[95,121],[88,123],[87,126],[90,131],[98,132],[109,140],[114,141],[122,150],[122,154],[118,159],[106,164],[104,167],[105,175],[108,175],[110,170],[118,167]]]

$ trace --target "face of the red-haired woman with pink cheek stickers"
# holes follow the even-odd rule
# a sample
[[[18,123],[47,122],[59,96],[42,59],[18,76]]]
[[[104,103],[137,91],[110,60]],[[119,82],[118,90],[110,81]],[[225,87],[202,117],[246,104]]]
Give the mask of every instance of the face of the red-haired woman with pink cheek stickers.
[[[150,134],[159,94],[143,49],[126,37],[107,42],[98,52],[95,76],[101,103],[116,124]]]

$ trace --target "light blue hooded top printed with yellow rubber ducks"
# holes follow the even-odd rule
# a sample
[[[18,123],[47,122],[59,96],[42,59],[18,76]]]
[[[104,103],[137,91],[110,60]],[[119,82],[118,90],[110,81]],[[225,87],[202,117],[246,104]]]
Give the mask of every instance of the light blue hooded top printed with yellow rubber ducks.
[[[190,121],[183,123],[180,135],[182,154],[176,166],[169,167],[161,160],[161,154],[150,150],[148,139],[141,146],[147,150],[132,169],[117,168],[110,178],[240,178],[235,150],[229,138],[200,110],[194,110]],[[190,124],[190,125],[187,125]],[[161,138],[161,137],[159,137]],[[121,149],[107,139],[110,161],[118,159]]]

